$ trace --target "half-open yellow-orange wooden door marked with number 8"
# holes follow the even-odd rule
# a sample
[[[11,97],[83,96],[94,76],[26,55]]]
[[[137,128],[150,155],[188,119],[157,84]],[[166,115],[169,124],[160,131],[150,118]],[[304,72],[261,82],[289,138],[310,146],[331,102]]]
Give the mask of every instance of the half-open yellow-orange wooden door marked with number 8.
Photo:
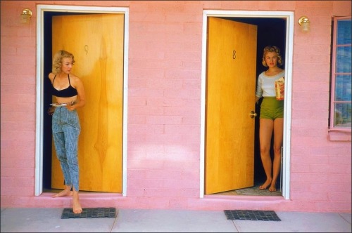
[[[256,25],[208,18],[205,192],[253,186]]]

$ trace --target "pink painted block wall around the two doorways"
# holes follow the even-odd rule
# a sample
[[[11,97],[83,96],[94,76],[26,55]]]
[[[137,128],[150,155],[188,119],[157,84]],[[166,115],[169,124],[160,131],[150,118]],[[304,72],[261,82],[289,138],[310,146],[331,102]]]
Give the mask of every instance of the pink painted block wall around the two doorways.
[[[128,7],[130,14],[127,197],[83,194],[82,206],[231,208],[351,213],[351,133],[329,133],[333,15],[351,1],[1,1],[1,207],[70,206],[34,196],[36,6]],[[23,8],[33,11],[22,25]],[[199,198],[203,10],[292,11],[294,22],[290,200]]]

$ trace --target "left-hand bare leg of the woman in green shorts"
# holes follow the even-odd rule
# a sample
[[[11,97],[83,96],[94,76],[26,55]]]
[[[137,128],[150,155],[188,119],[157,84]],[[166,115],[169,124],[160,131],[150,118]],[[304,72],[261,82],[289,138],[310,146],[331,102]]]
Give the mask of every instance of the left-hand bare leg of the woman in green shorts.
[[[267,189],[272,182],[271,168],[272,161],[270,157],[270,145],[274,121],[271,119],[260,119],[259,141],[260,141],[260,158],[264,167],[266,180],[259,189]]]

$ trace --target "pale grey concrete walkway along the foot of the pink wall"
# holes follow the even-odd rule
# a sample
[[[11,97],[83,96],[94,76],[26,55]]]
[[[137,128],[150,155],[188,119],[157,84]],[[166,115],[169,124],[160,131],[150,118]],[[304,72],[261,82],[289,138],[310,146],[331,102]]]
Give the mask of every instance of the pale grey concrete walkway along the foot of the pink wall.
[[[116,212],[61,219],[63,208],[1,208],[1,232],[351,232],[351,213],[275,212],[281,221],[261,221],[227,220],[224,211]]]

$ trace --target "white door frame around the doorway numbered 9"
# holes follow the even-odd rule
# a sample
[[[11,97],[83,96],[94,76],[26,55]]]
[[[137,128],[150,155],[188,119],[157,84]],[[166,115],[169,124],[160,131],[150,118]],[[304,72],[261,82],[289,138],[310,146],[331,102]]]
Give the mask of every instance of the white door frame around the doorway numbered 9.
[[[122,120],[122,197],[127,196],[127,92],[128,92],[128,37],[129,9],[100,6],[37,5],[37,78],[36,78],[36,143],[35,143],[35,183],[34,195],[43,192],[43,114],[44,112],[44,12],[70,13],[120,13],[124,14],[124,55],[123,55],[123,120]]]

